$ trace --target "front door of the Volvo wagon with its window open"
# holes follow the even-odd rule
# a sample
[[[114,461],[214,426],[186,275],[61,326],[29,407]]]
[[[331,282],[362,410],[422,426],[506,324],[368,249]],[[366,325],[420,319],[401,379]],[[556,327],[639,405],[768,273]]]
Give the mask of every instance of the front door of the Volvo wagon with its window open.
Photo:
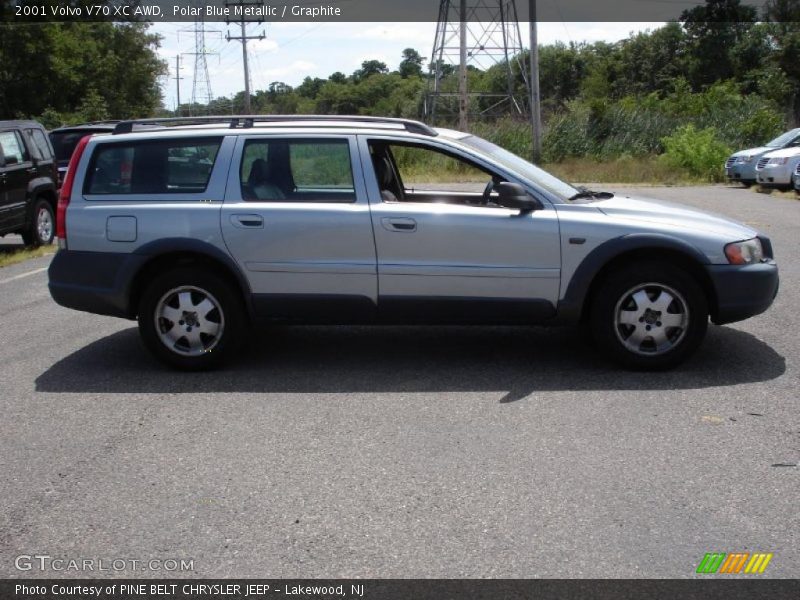
[[[359,137],[378,254],[379,311],[393,321],[536,322],[554,316],[556,211],[496,203],[508,180],[435,141]]]

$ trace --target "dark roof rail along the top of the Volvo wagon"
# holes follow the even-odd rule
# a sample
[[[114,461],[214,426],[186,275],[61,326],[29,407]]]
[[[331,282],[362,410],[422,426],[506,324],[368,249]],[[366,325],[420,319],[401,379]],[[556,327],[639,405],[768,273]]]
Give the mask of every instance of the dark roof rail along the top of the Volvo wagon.
[[[219,115],[213,117],[168,117],[159,119],[132,119],[120,121],[114,128],[114,135],[131,133],[134,125],[202,125],[213,123],[227,123],[230,129],[247,129],[254,123],[290,123],[292,121],[323,121],[335,126],[337,122],[357,123],[385,123],[402,125],[409,133],[437,136],[435,129],[420,121],[412,119],[397,119],[393,117],[371,117],[364,115]]]

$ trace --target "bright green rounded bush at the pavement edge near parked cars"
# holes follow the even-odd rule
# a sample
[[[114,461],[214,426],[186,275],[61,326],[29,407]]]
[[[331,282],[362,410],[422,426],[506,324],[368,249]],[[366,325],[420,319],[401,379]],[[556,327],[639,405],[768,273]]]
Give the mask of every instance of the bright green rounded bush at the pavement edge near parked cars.
[[[667,164],[707,181],[722,180],[722,165],[731,149],[719,141],[713,127],[684,125],[661,141],[666,150],[662,159]]]

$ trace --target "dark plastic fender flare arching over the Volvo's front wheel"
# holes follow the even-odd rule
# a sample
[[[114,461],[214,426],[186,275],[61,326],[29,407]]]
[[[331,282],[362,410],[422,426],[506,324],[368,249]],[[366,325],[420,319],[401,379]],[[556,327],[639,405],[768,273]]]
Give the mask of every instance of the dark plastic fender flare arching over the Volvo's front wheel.
[[[635,250],[671,250],[686,255],[699,265],[710,264],[708,257],[697,247],[671,235],[630,233],[613,238],[589,252],[575,269],[566,292],[558,303],[559,318],[579,319],[586,295],[597,274],[615,258]]]

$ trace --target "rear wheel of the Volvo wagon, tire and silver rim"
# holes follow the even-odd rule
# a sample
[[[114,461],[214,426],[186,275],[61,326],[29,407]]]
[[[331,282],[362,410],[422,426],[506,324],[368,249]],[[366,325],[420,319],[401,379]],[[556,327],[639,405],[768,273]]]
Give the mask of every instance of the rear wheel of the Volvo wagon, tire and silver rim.
[[[221,366],[236,354],[245,330],[236,288],[198,267],[158,275],[144,290],[137,314],[145,347],[162,362],[187,371]]]

